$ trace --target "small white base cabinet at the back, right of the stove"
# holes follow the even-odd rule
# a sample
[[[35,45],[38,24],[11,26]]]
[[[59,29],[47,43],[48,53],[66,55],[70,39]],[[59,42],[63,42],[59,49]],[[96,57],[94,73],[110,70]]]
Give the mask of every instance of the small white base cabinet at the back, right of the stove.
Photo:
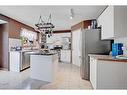
[[[71,62],[71,50],[61,50],[60,60],[62,62],[70,63]]]

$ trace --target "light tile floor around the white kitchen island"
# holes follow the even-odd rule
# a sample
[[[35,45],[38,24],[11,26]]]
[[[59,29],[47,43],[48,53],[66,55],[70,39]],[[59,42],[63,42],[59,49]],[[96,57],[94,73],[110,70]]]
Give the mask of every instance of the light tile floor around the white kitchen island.
[[[57,77],[49,83],[30,79],[30,69],[21,73],[0,70],[0,89],[92,89],[89,81],[82,80],[79,67],[60,63]]]

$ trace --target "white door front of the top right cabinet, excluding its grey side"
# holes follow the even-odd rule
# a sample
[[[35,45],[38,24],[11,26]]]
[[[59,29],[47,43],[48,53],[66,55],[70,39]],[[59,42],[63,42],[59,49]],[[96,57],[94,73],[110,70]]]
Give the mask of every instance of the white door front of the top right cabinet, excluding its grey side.
[[[101,26],[101,39],[112,39],[114,37],[114,7],[109,6],[99,16],[98,24]]]

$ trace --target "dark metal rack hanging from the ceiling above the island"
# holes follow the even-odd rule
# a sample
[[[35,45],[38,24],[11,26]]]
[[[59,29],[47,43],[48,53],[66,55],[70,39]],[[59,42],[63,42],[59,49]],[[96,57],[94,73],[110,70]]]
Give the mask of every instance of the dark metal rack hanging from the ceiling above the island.
[[[53,28],[55,28],[55,26],[52,24],[51,14],[49,15],[47,22],[44,22],[40,15],[39,21],[37,24],[35,24],[35,26],[36,26],[36,29],[35,29],[36,31],[39,31],[45,35],[48,35],[48,37],[52,36]]]

